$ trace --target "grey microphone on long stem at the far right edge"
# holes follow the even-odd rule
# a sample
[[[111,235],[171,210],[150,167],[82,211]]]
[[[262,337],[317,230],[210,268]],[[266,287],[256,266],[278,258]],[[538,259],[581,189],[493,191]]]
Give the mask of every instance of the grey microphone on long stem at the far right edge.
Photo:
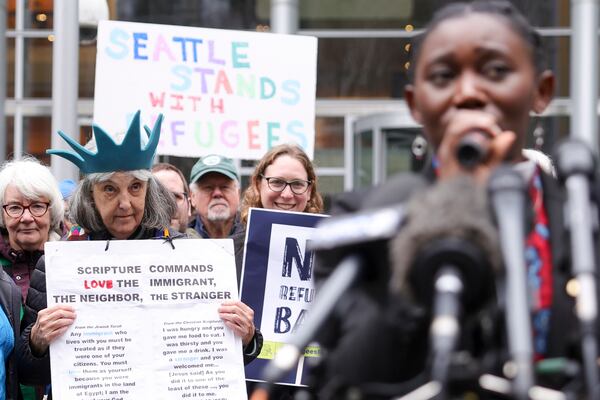
[[[566,227],[571,238],[571,263],[579,283],[575,312],[581,327],[581,353],[588,398],[600,399],[596,321],[598,297],[594,253],[594,230],[597,210],[590,202],[589,182],[594,175],[595,160],[581,141],[563,143],[557,153],[557,167],[567,191]]]

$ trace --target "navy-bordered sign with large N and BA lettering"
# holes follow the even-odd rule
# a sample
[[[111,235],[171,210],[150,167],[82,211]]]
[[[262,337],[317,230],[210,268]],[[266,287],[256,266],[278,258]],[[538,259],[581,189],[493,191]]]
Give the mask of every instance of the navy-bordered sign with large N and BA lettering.
[[[314,226],[324,215],[251,208],[242,272],[242,301],[254,310],[264,338],[258,358],[246,366],[246,378],[260,380],[278,349],[302,326],[315,298],[314,255],[307,251]],[[297,367],[279,383],[305,384],[305,357],[318,357],[309,346]]]

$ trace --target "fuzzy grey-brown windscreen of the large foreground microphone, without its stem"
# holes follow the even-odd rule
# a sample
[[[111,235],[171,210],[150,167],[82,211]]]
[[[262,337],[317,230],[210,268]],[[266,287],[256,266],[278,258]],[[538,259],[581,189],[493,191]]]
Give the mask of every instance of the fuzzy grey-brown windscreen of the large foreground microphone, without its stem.
[[[414,287],[415,277],[420,282],[433,285],[435,269],[442,265],[422,265],[420,255],[428,251],[434,243],[442,240],[458,243],[447,254],[447,259],[436,259],[434,263],[464,264],[453,265],[463,270],[465,289],[469,285],[483,288],[490,282],[477,282],[479,279],[493,279],[493,273],[500,271],[501,253],[498,233],[492,222],[487,193],[468,176],[437,182],[425,191],[415,195],[407,205],[406,223],[399,234],[392,239],[390,252],[392,260],[391,290],[408,295],[409,298],[427,297],[421,287]],[[470,248],[478,249],[487,261],[482,270],[472,263],[462,263],[463,258],[453,255]],[[457,250],[457,251],[455,251]],[[418,266],[418,268],[415,268]],[[490,270],[491,268],[491,270]],[[491,282],[493,283],[493,281]],[[472,288],[471,288],[472,289]]]

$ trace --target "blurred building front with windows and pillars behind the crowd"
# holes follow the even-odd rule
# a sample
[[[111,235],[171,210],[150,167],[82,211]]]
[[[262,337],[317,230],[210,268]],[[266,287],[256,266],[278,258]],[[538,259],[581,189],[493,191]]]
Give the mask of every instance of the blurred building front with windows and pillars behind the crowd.
[[[0,15],[4,20],[0,21],[0,35],[6,35],[5,73],[0,69],[0,79],[6,79],[4,85],[0,81],[0,101],[5,99],[6,117],[0,118],[0,130],[4,129],[0,134],[0,158],[32,154],[48,164],[55,163],[45,154],[53,144],[52,136],[56,136],[51,132],[58,128],[68,132],[71,119],[80,142],[89,139],[96,25],[98,20],[108,18],[316,36],[314,161],[320,189],[327,198],[382,182],[395,172],[419,168],[421,163],[410,151],[419,129],[402,99],[411,40],[433,11],[448,2],[79,0],[77,7],[76,0],[0,0],[0,13],[6,13]],[[533,147],[534,132],[542,128],[545,140],[538,145],[550,151],[556,140],[569,132],[569,0],[513,3],[545,37],[548,62],[557,76],[556,97],[546,113],[534,118],[529,138],[529,146]],[[69,26],[75,26],[75,30],[70,31]],[[59,40],[72,44],[59,54],[71,55],[55,60],[53,45]],[[65,65],[69,62],[73,62],[71,67]],[[58,128],[57,120],[61,121]],[[196,160],[161,157],[161,161],[172,162],[187,174]],[[245,184],[254,162],[239,163]],[[65,171],[58,170],[61,174]]]

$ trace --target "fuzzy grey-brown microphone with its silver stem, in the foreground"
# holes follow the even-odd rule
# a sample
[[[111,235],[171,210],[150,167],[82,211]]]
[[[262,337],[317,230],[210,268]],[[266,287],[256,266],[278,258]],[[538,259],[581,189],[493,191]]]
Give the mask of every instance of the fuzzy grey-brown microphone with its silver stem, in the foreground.
[[[462,176],[416,196],[391,254],[392,291],[432,309],[431,376],[445,387],[463,314],[490,300],[500,269],[485,191]]]

